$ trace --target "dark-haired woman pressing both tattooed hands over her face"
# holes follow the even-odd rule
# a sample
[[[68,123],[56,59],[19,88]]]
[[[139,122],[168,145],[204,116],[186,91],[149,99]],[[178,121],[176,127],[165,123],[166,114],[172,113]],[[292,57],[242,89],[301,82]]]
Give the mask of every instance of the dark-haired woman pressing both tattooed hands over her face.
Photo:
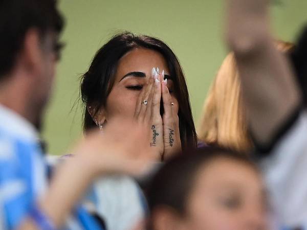
[[[81,81],[84,131],[115,118],[144,125],[152,159],[196,146],[185,77],[176,55],[161,40],[122,33],[96,53]],[[120,124],[119,124],[120,125]],[[129,130],[127,130],[129,138]]]

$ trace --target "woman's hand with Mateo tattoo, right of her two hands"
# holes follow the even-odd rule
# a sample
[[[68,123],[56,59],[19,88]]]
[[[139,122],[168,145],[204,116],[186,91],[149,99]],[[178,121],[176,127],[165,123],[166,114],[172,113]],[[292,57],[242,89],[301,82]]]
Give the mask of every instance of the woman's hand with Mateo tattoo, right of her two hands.
[[[164,79],[164,71],[161,74],[161,80]],[[167,79],[161,81],[162,100],[164,107],[163,120],[163,158],[167,159],[173,154],[181,151],[181,140],[179,132],[179,118],[177,111],[174,111],[174,103],[171,100],[169,90],[167,88]]]

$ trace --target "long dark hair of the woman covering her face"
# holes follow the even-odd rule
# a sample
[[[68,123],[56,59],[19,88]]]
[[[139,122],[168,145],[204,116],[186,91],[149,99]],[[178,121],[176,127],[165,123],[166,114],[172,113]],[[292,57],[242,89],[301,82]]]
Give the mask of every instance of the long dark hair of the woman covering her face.
[[[180,138],[183,149],[187,145],[196,146],[197,137],[193,122],[188,89],[179,60],[163,41],[145,35],[135,35],[125,32],[115,35],[96,53],[89,70],[82,76],[80,93],[83,108],[83,130],[96,126],[88,106],[95,107],[94,114],[105,107],[106,99],[112,90],[119,59],[127,52],[138,48],[146,48],[163,55],[168,65],[170,75],[174,79],[174,89],[180,105],[178,112]]]

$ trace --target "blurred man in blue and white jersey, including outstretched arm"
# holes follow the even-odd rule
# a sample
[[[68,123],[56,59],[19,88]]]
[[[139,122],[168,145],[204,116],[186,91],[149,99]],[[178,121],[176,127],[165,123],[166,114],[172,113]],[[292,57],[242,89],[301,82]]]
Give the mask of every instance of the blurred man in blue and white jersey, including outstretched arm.
[[[1,229],[102,229],[78,204],[91,183],[101,175],[138,175],[148,169],[144,152],[151,132],[141,132],[143,124],[133,119],[121,119],[108,122],[103,135],[88,133],[75,146],[75,157],[57,168],[48,185],[38,136],[62,27],[54,0],[0,2]]]

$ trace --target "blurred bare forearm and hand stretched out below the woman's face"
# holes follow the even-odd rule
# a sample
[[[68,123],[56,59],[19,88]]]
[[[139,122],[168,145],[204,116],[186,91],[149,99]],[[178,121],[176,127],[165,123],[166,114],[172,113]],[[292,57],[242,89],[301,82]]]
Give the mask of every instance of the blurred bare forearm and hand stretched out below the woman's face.
[[[150,169],[153,162],[146,154],[150,147],[147,140],[143,127],[123,120],[108,123],[104,133],[87,135],[75,147],[75,156],[57,169],[38,209],[60,228],[97,177],[113,173],[138,176]],[[28,218],[19,229],[36,229],[36,224]]]

